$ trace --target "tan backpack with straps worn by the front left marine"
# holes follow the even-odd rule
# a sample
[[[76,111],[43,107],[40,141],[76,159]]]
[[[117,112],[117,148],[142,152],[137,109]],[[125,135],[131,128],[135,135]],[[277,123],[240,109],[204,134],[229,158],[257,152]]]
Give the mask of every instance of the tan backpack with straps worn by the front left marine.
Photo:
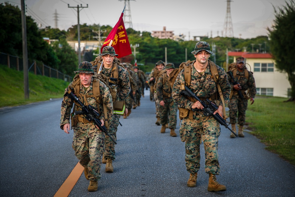
[[[98,104],[102,103],[103,108],[104,108],[105,126],[106,126],[106,128],[109,129],[109,118],[110,117],[108,117],[108,115],[106,113],[106,105],[102,102],[102,97],[101,97],[101,94],[100,94],[100,91],[99,91],[99,83],[103,82],[109,88],[109,92],[112,95],[113,105],[114,105],[114,102],[116,101],[117,89],[115,88],[115,85],[112,86],[112,87],[109,86],[108,79],[104,74],[96,74],[96,75],[93,75],[92,78],[93,78],[93,83],[92,83],[93,97],[96,100],[96,104],[97,104],[98,109],[99,109]],[[80,77],[79,77],[79,74],[76,74],[76,76],[74,77],[71,87],[74,89],[74,93],[77,96],[82,97],[80,95]],[[91,97],[92,95],[84,95],[84,96],[85,97]]]

